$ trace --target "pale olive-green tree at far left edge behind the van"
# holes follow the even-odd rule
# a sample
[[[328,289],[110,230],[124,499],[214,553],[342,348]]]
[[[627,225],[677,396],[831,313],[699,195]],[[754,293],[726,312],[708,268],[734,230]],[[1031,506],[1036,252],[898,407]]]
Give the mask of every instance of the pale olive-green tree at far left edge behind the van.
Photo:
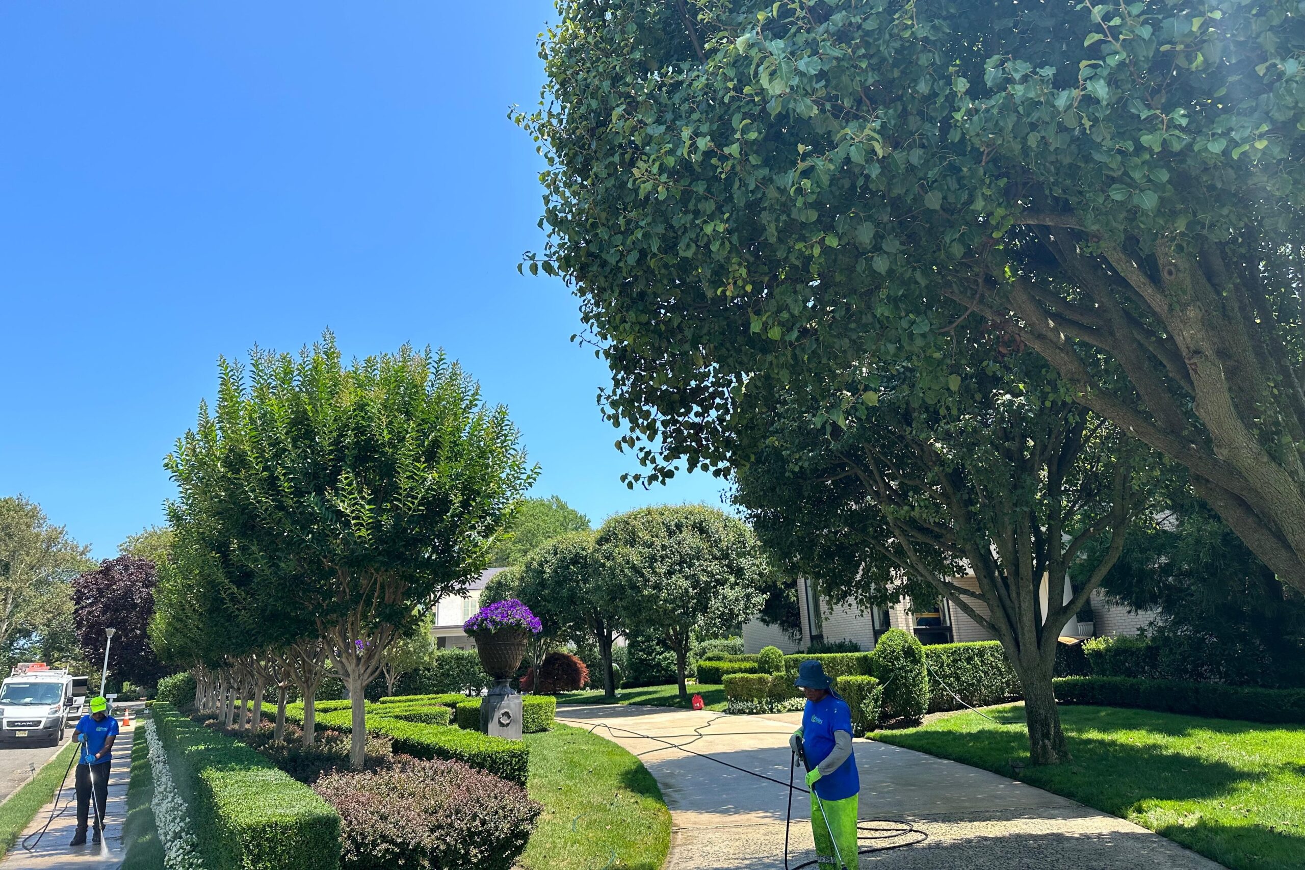
[[[0,498],[0,650],[10,660],[70,652],[59,640],[70,625],[70,580],[90,567],[89,552],[35,502]]]

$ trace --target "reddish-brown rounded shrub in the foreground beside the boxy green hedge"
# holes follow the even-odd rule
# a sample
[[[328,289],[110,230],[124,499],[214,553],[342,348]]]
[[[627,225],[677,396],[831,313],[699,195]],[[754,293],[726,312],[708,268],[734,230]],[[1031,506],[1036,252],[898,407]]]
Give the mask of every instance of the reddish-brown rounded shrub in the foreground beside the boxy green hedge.
[[[337,773],[315,790],[343,822],[343,870],[510,870],[543,810],[523,788],[458,762]]]

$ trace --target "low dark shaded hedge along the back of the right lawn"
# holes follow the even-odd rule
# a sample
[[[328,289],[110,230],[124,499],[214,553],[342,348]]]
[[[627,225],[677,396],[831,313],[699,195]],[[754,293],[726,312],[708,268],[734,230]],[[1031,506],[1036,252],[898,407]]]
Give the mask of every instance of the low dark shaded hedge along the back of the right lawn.
[[[1130,677],[1065,677],[1053,683],[1056,699],[1062,704],[1138,707],[1215,719],[1305,724],[1305,689]]]

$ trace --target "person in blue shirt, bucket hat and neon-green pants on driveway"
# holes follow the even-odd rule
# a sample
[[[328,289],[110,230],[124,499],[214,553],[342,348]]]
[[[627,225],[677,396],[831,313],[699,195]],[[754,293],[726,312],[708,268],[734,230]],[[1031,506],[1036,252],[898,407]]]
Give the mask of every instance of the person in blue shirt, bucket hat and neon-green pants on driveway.
[[[788,742],[795,753],[801,746],[806,754],[816,862],[821,870],[857,870],[856,805],[861,777],[852,754],[852,708],[834,693],[825,668],[814,659],[797,667],[797,687],[806,695],[806,707],[803,727]]]

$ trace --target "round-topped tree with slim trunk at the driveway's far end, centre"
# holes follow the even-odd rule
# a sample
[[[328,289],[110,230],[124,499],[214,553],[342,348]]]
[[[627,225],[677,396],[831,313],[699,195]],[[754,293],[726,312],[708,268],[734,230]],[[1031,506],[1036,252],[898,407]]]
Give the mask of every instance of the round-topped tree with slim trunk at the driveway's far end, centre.
[[[598,530],[594,556],[625,629],[675,652],[680,698],[694,635],[716,637],[757,613],[770,565],[741,520],[702,505],[642,507]]]

